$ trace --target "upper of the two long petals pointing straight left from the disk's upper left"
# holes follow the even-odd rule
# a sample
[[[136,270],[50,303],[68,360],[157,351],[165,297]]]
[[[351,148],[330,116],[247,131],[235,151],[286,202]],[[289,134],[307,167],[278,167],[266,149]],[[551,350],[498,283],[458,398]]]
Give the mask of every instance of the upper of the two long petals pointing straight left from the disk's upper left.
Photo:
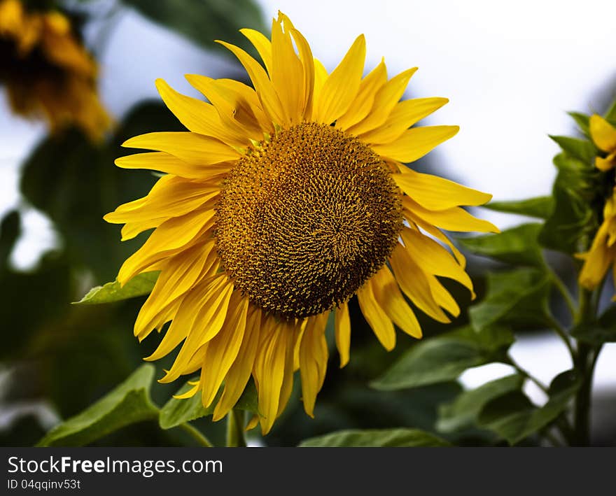
[[[222,141],[190,132],[141,134],[125,141],[122,146],[166,152],[188,164],[202,166],[237,160],[240,157],[237,150]]]

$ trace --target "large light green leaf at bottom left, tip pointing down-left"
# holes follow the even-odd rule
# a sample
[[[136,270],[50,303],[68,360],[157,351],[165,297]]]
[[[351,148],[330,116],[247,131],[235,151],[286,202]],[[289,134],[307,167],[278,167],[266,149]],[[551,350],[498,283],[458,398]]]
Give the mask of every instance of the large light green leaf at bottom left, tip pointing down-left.
[[[37,446],[84,446],[125,425],[157,418],[149,392],[154,371],[153,365],[142,365],[102,399],[50,430]]]

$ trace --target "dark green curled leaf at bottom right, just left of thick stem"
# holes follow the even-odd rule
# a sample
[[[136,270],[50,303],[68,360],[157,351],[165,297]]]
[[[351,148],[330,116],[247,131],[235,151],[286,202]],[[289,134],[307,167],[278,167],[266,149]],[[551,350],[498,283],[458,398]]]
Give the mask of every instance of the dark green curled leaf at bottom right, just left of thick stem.
[[[524,393],[509,392],[484,406],[479,413],[479,426],[493,430],[511,445],[518,444],[558,418],[580,388],[580,383],[573,371],[559,374],[549,387],[547,403],[541,408],[533,405]]]

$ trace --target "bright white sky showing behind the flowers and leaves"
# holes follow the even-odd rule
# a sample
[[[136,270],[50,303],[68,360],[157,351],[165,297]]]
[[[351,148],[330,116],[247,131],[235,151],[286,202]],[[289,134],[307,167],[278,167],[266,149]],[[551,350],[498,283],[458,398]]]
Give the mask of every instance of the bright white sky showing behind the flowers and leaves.
[[[571,134],[573,121],[566,111],[589,113],[600,103],[601,90],[608,90],[609,83],[615,90],[613,0],[259,3],[267,19],[278,9],[289,15],[329,70],[360,33],[367,40],[367,70],[383,55],[390,76],[419,66],[407,97],[450,99],[423,123],[461,126],[434,152],[442,164],[439,171],[495,199],[549,194],[557,148],[547,134]],[[121,18],[102,58],[102,97],[121,115],[139,99],[157,96],[155,78],[195,94],[184,73],[216,77],[237,70],[228,60],[130,13]],[[10,116],[0,98],[0,136],[2,215],[18,203],[18,164],[41,136],[41,126]],[[483,216],[501,228],[519,222],[489,211]],[[13,257],[19,267],[34,263],[52,243],[44,218],[30,213],[25,220],[27,234]],[[566,367],[552,349],[546,353],[553,360],[535,364],[545,381],[558,371],[554,366]],[[614,380],[615,359],[614,347],[606,348],[598,364],[599,384]]]

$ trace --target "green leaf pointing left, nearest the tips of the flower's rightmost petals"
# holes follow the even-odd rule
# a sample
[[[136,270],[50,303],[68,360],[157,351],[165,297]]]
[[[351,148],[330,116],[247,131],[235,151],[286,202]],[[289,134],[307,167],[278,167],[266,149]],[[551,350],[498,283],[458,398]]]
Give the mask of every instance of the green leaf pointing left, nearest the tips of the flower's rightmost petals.
[[[542,225],[537,223],[522,224],[498,234],[458,238],[457,241],[472,253],[500,262],[544,267],[545,262],[537,242],[541,227]]]

